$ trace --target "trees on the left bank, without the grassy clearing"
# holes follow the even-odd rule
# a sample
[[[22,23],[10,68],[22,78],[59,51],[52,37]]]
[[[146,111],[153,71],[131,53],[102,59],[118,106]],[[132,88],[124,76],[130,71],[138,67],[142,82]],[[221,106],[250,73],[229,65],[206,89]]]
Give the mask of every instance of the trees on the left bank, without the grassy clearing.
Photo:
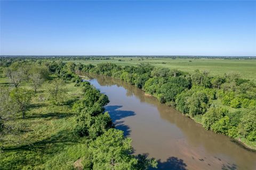
[[[104,106],[109,103],[108,97],[89,82],[83,82],[79,78],[76,72],[82,69],[83,65],[80,64],[34,61],[18,61],[4,67],[2,77],[9,78],[12,87],[0,87],[0,143],[6,134],[12,133],[13,127],[8,123],[12,116],[21,114],[21,118],[26,119],[31,100],[40,91],[43,83],[47,91],[46,100],[52,105],[63,105],[68,91],[65,81],[73,81],[83,92],[71,105],[76,120],[74,138],[86,139],[86,147],[83,148],[80,158],[83,169],[156,167],[154,158],[133,155],[131,139],[126,138],[123,131],[115,129],[108,112],[105,112]],[[21,87],[22,82],[29,82],[33,90]]]

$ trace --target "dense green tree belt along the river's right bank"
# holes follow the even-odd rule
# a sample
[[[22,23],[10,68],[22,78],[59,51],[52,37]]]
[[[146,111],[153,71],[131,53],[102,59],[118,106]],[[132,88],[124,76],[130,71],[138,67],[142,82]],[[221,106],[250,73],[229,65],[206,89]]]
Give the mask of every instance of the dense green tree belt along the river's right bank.
[[[149,64],[118,66],[113,63],[83,65],[81,71],[137,86],[203,124],[206,130],[256,141],[256,84],[237,73],[211,76],[207,71],[187,73]]]

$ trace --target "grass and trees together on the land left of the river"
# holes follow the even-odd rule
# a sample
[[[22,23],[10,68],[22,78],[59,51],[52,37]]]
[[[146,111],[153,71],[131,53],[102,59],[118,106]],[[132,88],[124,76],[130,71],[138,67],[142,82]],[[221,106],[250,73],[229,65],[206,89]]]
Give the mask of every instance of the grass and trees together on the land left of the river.
[[[37,63],[38,67],[31,63],[21,65],[26,64],[28,70],[17,65],[17,70],[26,71],[26,76],[24,74],[15,88],[9,91],[1,84],[1,169],[156,167],[155,159],[132,155],[131,139],[124,137],[123,131],[114,129],[103,107],[109,103],[108,97],[75,75],[76,71],[86,67],[55,62]],[[45,68],[51,75],[41,72]],[[111,64],[109,68],[112,69]],[[141,72],[145,73],[145,69],[148,68]],[[31,70],[35,72],[30,73]],[[49,82],[42,86],[44,80]],[[10,82],[14,84],[12,79]],[[30,87],[34,92],[29,90]],[[37,91],[38,88],[41,90]],[[48,100],[45,100],[46,96]],[[16,109],[23,119],[12,112]],[[15,127],[13,131],[9,131],[12,129],[9,125]]]

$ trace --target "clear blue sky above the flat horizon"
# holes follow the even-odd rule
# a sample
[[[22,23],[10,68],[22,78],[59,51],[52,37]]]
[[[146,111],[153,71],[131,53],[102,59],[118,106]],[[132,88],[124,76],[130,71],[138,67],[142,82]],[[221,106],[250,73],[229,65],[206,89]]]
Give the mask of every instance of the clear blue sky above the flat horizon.
[[[1,1],[1,55],[256,56],[255,1]]]

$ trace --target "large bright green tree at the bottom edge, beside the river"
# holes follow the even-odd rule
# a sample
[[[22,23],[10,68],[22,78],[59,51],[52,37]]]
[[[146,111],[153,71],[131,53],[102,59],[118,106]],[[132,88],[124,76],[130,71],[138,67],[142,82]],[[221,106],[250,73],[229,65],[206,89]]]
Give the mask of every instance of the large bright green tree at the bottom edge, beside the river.
[[[123,131],[109,129],[90,144],[92,169],[148,169],[156,167],[155,159],[138,159],[132,154],[131,139],[125,138]],[[140,161],[139,161],[140,160]]]

